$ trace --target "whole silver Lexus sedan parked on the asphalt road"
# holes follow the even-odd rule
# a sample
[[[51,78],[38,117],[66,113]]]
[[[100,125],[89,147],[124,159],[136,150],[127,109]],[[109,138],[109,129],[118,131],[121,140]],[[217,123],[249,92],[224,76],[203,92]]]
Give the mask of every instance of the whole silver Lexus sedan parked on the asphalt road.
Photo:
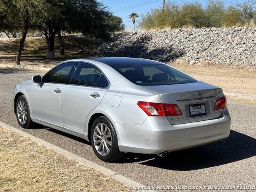
[[[101,160],[224,142],[231,118],[221,88],[161,62],[88,58],[62,62],[16,85],[23,128],[42,124],[90,141]]]

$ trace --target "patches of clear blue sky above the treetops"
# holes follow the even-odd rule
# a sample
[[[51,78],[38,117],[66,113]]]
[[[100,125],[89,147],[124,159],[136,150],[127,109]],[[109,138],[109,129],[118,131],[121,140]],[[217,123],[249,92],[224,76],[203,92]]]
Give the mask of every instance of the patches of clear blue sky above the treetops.
[[[113,12],[114,15],[119,16],[123,19],[123,22],[126,26],[126,29],[133,29],[133,24],[131,20],[128,18],[129,14],[132,12],[140,14],[145,14],[153,8],[162,7],[163,0],[98,0],[104,4],[104,6],[108,6],[110,11]],[[165,0],[168,1],[168,0]],[[207,4],[207,0],[171,0],[176,4],[184,4],[188,2],[199,2],[204,6]],[[225,6],[229,6],[235,4],[237,2],[244,2],[246,0],[222,0]],[[140,20],[140,17],[136,19]],[[138,24],[138,22],[136,22]],[[135,23],[135,24],[136,24]]]

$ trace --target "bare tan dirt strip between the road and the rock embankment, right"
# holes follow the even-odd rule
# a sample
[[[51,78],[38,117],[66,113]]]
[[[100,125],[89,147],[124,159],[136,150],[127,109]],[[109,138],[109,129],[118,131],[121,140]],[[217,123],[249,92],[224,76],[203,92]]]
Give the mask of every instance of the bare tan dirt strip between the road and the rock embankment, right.
[[[171,66],[224,91],[256,95],[256,73],[223,65],[188,65],[170,63]]]

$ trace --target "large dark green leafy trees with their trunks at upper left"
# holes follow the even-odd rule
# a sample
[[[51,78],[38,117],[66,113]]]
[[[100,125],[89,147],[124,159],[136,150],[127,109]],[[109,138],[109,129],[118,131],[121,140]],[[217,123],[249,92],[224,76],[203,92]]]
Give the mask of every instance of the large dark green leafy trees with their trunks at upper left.
[[[29,30],[41,32],[48,51],[55,51],[55,38],[64,55],[62,33],[79,33],[92,38],[109,39],[110,33],[124,30],[122,19],[96,0],[1,0],[0,32],[16,37],[20,33],[16,64]]]

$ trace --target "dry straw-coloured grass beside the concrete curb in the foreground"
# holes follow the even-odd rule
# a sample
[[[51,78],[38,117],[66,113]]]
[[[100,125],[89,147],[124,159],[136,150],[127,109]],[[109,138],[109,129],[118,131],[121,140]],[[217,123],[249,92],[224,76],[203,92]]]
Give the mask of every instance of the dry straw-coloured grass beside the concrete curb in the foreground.
[[[0,127],[0,191],[130,190],[113,178]]]

